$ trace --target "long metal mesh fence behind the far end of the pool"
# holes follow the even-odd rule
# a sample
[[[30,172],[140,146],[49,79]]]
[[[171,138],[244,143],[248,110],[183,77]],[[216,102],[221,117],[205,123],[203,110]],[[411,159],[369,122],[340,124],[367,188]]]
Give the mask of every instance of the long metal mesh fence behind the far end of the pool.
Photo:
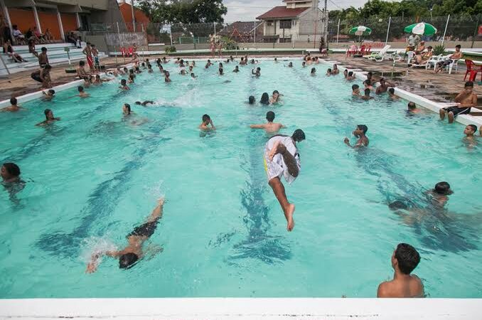
[[[438,16],[438,17],[389,17],[368,18],[363,20],[328,20],[323,18],[292,19],[287,21],[237,21],[235,23],[92,23],[90,35],[105,33],[144,34],[145,43],[150,46],[181,46],[183,49],[209,48],[210,37],[218,36],[225,48],[240,46],[262,47],[261,43],[271,43],[273,48],[319,48],[327,36],[330,48],[346,46],[360,40],[372,42],[376,46],[385,43],[405,43],[407,33],[404,29],[412,23],[424,21],[434,25],[438,32],[434,36],[423,36],[425,41],[482,41],[482,15],[478,16]],[[368,26],[372,29],[369,36],[353,36],[348,33],[354,26]],[[325,33],[326,30],[326,33]],[[344,44],[343,44],[344,43]],[[376,44],[375,44],[376,43]],[[266,45],[264,45],[266,46]],[[402,44],[400,44],[402,46]],[[473,43],[472,43],[473,46]]]

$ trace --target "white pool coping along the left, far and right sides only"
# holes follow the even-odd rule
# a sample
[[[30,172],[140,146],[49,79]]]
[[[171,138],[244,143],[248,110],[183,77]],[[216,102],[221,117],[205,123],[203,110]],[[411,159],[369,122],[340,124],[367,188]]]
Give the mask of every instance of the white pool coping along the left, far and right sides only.
[[[209,58],[192,58],[192,59],[186,59],[186,60],[205,61],[205,60],[208,60],[208,59]],[[213,62],[215,62],[219,59],[220,58],[213,58]],[[278,60],[297,60],[296,57],[279,57],[279,58],[277,57],[277,59]],[[255,58],[255,60],[273,60],[273,58],[259,57],[259,58]],[[321,61],[321,63],[328,64],[328,65],[336,63],[341,70],[345,70],[345,69],[353,70],[353,73],[355,73],[355,75],[357,76],[358,79],[360,79],[360,80],[366,79],[365,73],[367,73],[367,72],[365,72],[363,70],[359,70],[359,69],[348,68],[347,66],[344,65],[343,62],[339,62],[337,60],[320,60],[320,61]],[[132,65],[132,64],[128,63],[126,65],[122,65],[121,67],[122,68],[124,66],[129,67],[130,65]],[[105,73],[102,73],[102,76],[104,76],[104,75],[105,75]],[[61,92],[61,91],[68,90],[70,88],[76,87],[77,85],[82,84],[82,82],[83,82],[83,80],[74,80],[72,82],[68,82],[68,83],[65,83],[63,85],[57,85],[55,87],[52,87],[51,89],[55,90],[55,92]],[[44,90],[48,90],[48,89],[44,89]],[[31,100],[41,98],[42,95],[43,95],[42,92],[44,90],[40,90],[40,91],[37,91],[37,92],[31,92],[31,93],[28,93],[26,95],[18,96],[18,97],[16,97],[17,101],[18,101],[18,103],[23,103],[23,102],[28,102],[28,101],[31,101]],[[415,102],[415,104],[419,105],[420,107],[424,107],[425,109],[436,112],[437,114],[439,113],[439,110],[441,108],[447,107],[446,103],[434,102],[432,100],[421,97],[419,95],[415,95],[412,92],[408,92],[407,90],[402,90],[398,87],[395,87],[395,94],[402,97],[403,99],[405,99],[407,101]],[[0,108],[8,107],[9,105],[10,105],[10,100],[0,101]],[[477,109],[477,108],[473,108],[473,109]],[[476,124],[477,127],[482,126],[482,117],[480,117],[480,119],[478,119],[477,117],[473,117],[469,114],[461,114],[461,115],[459,115],[458,117],[455,118],[455,121],[459,122],[461,124],[465,124],[465,125]]]

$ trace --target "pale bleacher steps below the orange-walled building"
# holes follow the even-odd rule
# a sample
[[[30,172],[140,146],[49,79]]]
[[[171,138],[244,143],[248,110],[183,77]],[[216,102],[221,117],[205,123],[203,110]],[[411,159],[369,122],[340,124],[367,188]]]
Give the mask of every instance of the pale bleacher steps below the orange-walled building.
[[[65,48],[69,48],[70,62],[76,62],[78,60],[85,60],[85,55],[82,54],[82,48],[76,48],[73,43],[48,43],[36,46],[36,51],[41,52],[41,48],[48,49],[48,62],[50,65],[60,65],[68,63],[68,55],[65,52]],[[4,64],[0,63],[0,75],[8,75],[6,68],[8,68],[11,74],[20,73],[25,70],[38,69],[38,58],[32,53],[28,52],[28,46],[14,46],[14,51],[21,55],[21,57],[27,60],[26,63],[15,63],[8,55],[1,53],[1,57],[4,60]],[[99,53],[99,58],[105,58],[105,53]],[[77,63],[73,63],[77,65]]]

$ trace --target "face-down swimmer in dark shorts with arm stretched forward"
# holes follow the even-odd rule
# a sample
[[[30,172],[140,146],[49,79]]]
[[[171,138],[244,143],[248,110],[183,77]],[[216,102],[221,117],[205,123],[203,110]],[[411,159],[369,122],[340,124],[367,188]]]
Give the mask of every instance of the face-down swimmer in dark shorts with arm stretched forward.
[[[142,245],[144,242],[154,234],[156,231],[157,224],[162,218],[162,207],[164,206],[164,198],[159,199],[158,205],[152,211],[149,218],[147,218],[146,223],[139,225],[134,228],[132,233],[127,235],[127,247],[124,247],[120,251],[105,251],[105,252],[94,252],[92,254],[91,260],[87,265],[86,273],[92,273],[97,270],[99,266],[99,259],[102,255],[107,255],[109,257],[119,257],[119,268],[129,269],[134,266],[134,264],[144,257],[144,251],[142,250]]]

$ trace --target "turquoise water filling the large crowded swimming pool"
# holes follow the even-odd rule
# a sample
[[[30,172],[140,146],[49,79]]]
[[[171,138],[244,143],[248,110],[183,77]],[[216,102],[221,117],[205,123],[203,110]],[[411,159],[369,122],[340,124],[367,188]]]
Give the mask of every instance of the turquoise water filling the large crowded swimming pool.
[[[327,65],[311,77],[300,61],[285,64],[262,61],[255,79],[250,66],[235,74],[225,64],[219,76],[200,62],[191,80],[168,63],[169,84],[155,70],[129,92],[107,82],[84,100],[67,99],[72,89],[0,114],[1,161],[27,181],[16,198],[0,190],[0,297],[375,297],[398,242],[422,255],[414,273],[430,297],[482,297],[481,146],[468,148],[464,127],[437,114],[407,117],[406,101],[353,101]],[[273,90],[282,105],[245,104]],[[124,102],[147,122],[123,121]],[[35,127],[47,107],[62,120]],[[264,173],[268,136],[248,128],[269,110],[283,133],[306,133],[301,174],[285,183],[292,233]],[[205,113],[218,131],[200,137]],[[365,151],[343,144],[356,124],[368,125]],[[387,208],[409,198],[427,213],[421,195],[438,181],[454,190],[447,212],[408,225]],[[164,251],[130,270],[104,259],[85,274],[90,252],[125,245],[164,195],[148,243]]]

